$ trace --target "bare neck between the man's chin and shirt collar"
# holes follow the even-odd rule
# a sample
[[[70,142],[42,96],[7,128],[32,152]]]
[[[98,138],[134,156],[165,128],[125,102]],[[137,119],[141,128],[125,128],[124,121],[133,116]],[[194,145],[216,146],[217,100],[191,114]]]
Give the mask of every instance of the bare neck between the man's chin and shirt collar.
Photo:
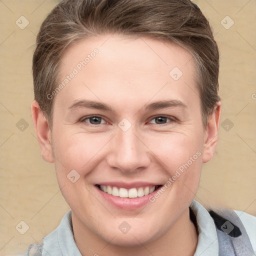
[[[161,237],[140,246],[117,246],[101,239],[82,224],[73,212],[72,225],[75,242],[82,256],[192,256],[198,241],[196,228],[189,218],[189,209]]]

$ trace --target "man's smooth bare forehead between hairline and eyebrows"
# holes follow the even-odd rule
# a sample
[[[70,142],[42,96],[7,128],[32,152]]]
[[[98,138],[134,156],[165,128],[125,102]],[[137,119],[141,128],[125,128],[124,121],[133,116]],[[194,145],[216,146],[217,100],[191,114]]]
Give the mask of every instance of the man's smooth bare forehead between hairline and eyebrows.
[[[66,102],[83,96],[119,105],[152,97],[199,101],[192,56],[174,43],[139,36],[95,36],[69,47],[61,63],[59,81],[67,83],[57,98]]]

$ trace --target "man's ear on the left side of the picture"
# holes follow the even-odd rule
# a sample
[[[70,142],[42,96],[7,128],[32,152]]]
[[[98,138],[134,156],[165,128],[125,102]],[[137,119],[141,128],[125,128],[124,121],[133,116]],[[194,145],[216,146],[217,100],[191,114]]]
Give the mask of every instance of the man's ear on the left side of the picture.
[[[48,121],[43,115],[37,101],[31,103],[32,120],[34,124],[35,133],[41,148],[42,158],[47,162],[53,162],[51,148],[51,131],[48,125]]]

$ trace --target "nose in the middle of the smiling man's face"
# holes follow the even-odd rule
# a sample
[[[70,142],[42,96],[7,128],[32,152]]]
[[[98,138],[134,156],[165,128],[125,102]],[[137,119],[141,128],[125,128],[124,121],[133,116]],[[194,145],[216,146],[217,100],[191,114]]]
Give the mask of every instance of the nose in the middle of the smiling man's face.
[[[111,141],[111,149],[106,161],[112,168],[132,173],[150,164],[149,151],[134,128],[131,127],[127,131],[117,128],[117,134]]]

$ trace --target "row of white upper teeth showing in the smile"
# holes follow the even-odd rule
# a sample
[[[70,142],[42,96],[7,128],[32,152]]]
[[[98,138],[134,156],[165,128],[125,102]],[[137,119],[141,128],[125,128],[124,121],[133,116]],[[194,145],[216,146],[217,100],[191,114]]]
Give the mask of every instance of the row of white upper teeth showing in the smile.
[[[139,188],[130,188],[126,189],[124,187],[116,187],[116,186],[105,186],[100,185],[100,190],[104,191],[105,193],[111,194],[113,196],[119,196],[123,198],[136,198],[141,197],[144,195],[148,195],[155,190],[155,186],[146,186],[146,187],[139,187]]]

